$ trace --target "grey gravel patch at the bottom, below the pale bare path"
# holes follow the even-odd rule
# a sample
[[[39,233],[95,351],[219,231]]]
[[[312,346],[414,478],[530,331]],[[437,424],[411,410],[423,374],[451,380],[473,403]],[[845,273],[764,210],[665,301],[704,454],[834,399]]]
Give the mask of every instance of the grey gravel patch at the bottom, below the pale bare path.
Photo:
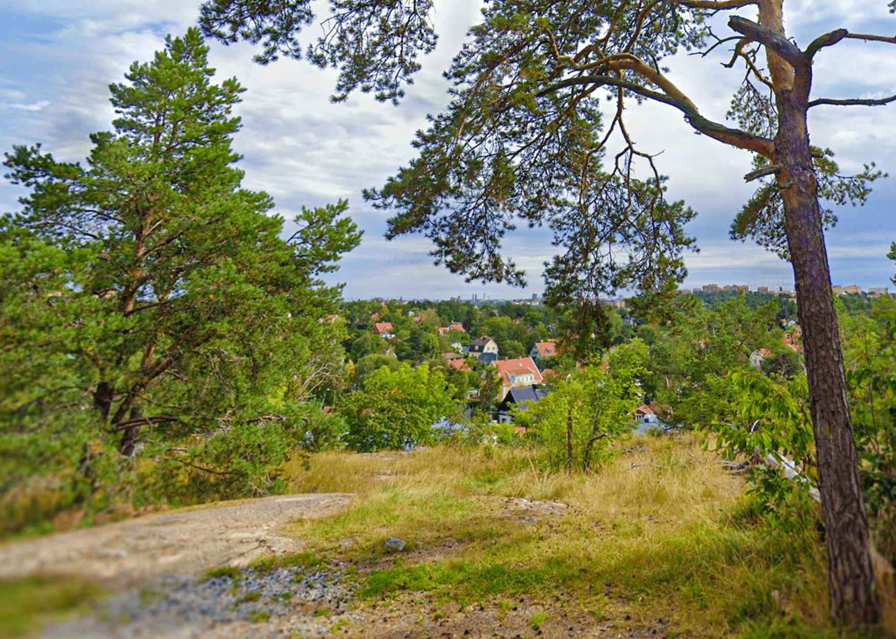
[[[163,575],[47,627],[42,639],[273,639],[332,636],[360,617],[338,571],[252,568],[229,576]]]

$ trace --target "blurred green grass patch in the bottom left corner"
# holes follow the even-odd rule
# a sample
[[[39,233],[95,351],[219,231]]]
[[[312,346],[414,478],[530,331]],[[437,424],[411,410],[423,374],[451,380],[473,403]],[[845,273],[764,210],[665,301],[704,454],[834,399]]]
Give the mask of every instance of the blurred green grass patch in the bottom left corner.
[[[39,575],[0,581],[0,636],[36,632],[98,596],[95,583],[75,577]]]

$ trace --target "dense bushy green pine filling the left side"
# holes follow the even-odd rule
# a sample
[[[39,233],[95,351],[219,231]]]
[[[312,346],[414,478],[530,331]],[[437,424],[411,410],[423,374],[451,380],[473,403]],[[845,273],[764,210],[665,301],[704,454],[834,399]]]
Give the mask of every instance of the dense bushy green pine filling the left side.
[[[303,209],[289,241],[240,187],[244,89],[211,82],[198,30],[113,84],[114,132],[86,166],[5,156],[30,189],[0,219],[3,529],[59,510],[276,492],[296,447],[340,420],[344,325],[323,283],[360,233],[347,203]]]

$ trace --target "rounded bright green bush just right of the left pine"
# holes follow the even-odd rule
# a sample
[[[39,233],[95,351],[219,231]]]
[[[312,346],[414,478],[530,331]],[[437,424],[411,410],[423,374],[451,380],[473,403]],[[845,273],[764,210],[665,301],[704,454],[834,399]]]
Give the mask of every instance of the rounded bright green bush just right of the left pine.
[[[458,410],[453,391],[437,368],[381,367],[340,406],[349,427],[345,442],[362,453],[430,444],[433,424]]]

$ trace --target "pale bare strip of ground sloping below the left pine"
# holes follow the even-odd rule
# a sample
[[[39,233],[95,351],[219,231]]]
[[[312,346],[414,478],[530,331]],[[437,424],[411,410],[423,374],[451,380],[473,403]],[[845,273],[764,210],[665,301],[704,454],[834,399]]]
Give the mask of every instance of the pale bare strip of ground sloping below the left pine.
[[[351,495],[287,495],[173,514],[0,546],[0,579],[78,574],[118,587],[161,574],[196,574],[213,566],[247,566],[255,557],[296,552],[304,543],[281,536],[298,519],[337,513]]]

